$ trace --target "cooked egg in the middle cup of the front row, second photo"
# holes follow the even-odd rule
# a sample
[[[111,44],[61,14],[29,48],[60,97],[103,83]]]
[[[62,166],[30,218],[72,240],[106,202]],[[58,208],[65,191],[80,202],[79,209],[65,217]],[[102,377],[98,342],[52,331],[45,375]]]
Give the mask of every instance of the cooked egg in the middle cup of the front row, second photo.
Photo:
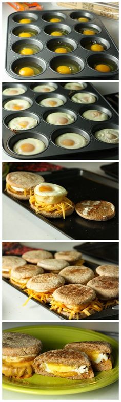
[[[81,134],[77,133],[61,134],[55,139],[56,145],[70,150],[82,148],[83,146],[87,145],[87,143],[88,143],[87,139],[83,137]]]

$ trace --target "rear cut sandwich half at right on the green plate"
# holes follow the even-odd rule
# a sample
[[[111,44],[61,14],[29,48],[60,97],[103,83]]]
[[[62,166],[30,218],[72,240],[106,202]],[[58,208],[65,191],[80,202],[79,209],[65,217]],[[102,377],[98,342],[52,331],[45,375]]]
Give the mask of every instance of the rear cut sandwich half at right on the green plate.
[[[91,365],[95,371],[112,369],[111,345],[102,341],[73,342],[65,346],[66,350],[76,350],[86,353],[90,358]]]

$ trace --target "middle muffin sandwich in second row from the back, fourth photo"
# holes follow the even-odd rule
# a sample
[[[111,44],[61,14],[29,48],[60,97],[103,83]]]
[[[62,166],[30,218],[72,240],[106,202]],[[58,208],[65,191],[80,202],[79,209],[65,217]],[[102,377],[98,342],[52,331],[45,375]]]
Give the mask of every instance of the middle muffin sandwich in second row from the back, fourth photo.
[[[55,258],[53,258],[51,260],[40,260],[37,265],[38,267],[44,268],[45,271],[58,273],[63,268],[67,267],[69,263],[65,260],[55,260]]]

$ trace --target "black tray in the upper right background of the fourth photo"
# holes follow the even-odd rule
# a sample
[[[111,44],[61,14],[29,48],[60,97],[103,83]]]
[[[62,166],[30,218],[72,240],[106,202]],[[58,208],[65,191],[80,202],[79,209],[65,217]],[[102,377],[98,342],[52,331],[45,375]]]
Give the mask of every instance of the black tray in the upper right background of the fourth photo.
[[[118,264],[118,243],[87,242],[74,247],[88,256]]]

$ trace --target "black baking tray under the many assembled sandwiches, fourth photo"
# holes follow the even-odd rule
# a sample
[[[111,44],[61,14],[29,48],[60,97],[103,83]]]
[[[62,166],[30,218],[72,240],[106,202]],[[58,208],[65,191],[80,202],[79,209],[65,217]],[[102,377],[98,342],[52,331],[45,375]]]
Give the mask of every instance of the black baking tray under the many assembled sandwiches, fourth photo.
[[[95,268],[97,267],[97,264],[95,264],[92,261],[86,261],[83,263],[83,265],[85,265],[88,268],[91,268],[93,271],[95,271]],[[26,295],[26,297],[28,297],[28,294],[24,292],[24,290],[18,288],[17,286],[13,285],[12,283],[10,283],[9,279],[7,278],[2,278],[6,283],[8,283],[8,285],[14,287],[15,289],[17,289],[19,292],[23,293]],[[46,310],[49,310],[50,313],[53,313],[54,315],[56,315],[57,317],[59,317],[61,320],[68,320],[68,318],[66,316],[64,316],[63,314],[58,314],[57,312],[55,312],[54,310],[50,310],[50,304],[46,303],[46,304],[42,304],[41,302],[39,302],[38,300],[35,300],[34,298],[32,298],[31,300],[33,300],[35,303],[39,304],[39,306],[41,305],[42,307],[44,307]],[[83,319],[79,319],[78,321],[82,321],[82,320],[118,320],[118,310],[113,310],[111,307],[107,308],[103,311],[99,311],[96,312],[95,314],[92,314],[88,317],[85,317]]]

